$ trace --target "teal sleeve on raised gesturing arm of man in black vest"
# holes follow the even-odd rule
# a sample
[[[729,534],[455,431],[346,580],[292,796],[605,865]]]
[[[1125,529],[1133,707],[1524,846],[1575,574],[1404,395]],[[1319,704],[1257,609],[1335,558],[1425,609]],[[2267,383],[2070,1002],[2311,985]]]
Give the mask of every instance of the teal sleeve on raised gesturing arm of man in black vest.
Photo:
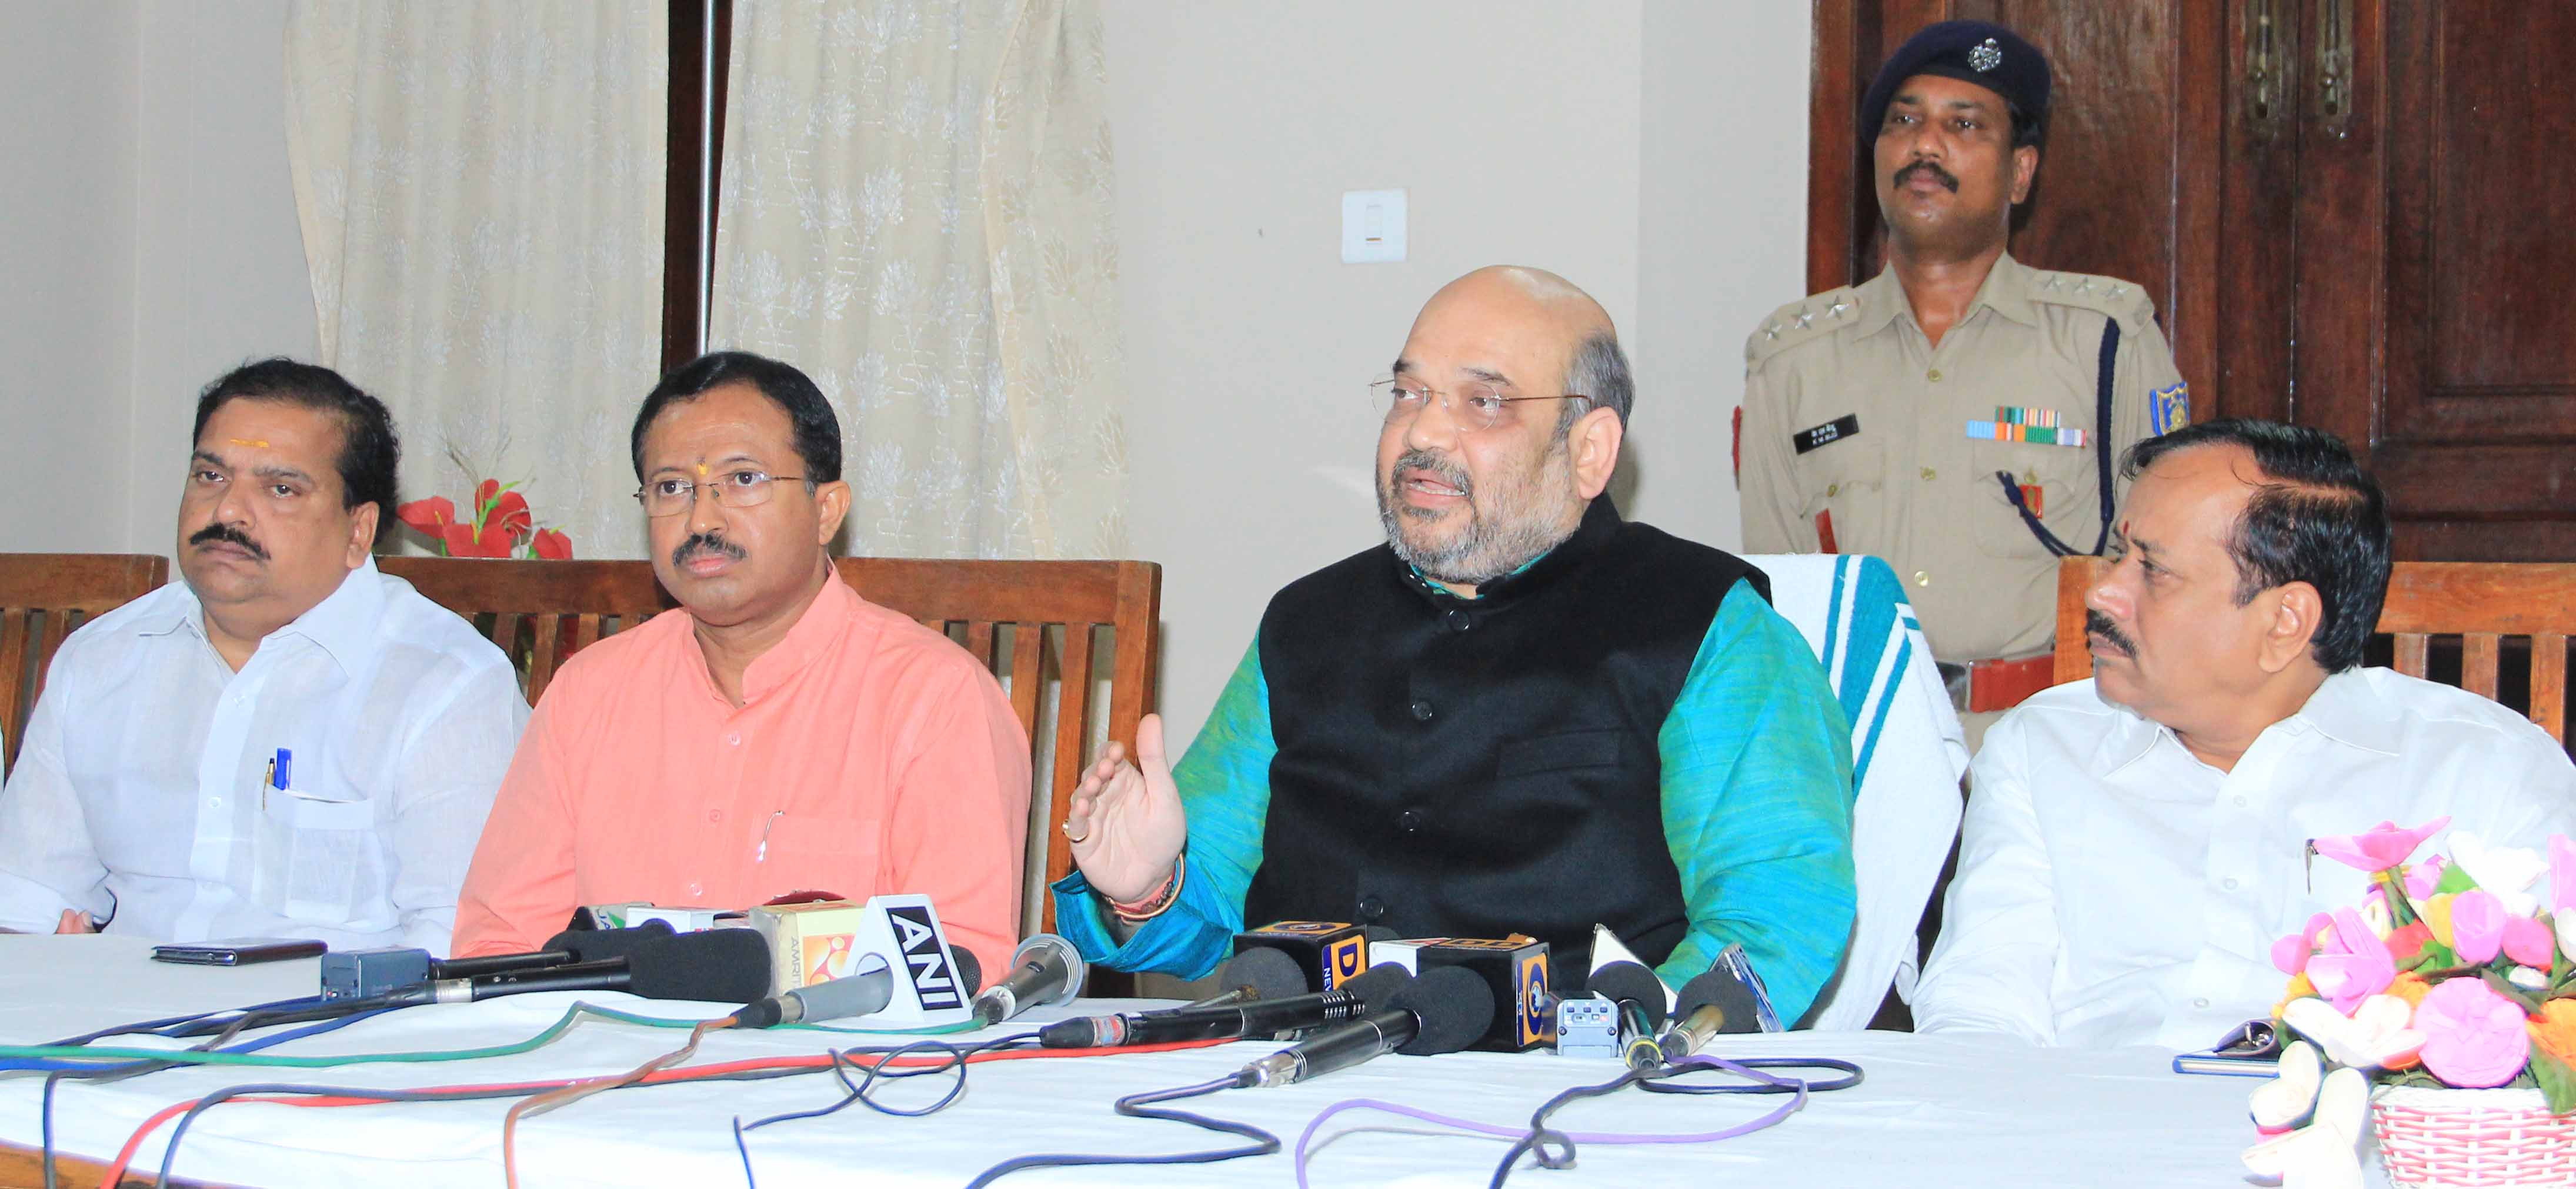
[[[1108,908],[1082,872],[1056,880],[1056,932],[1087,963],[1110,970],[1154,970],[1206,978],[1234,952],[1244,929],[1244,893],[1262,865],[1262,821],[1270,816],[1270,685],[1262,646],[1252,641],[1234,667],[1216,710],[1198,739],[1172,764],[1180,803],[1190,813],[1190,875],[1162,916],[1136,929],[1126,945],[1110,934]]]

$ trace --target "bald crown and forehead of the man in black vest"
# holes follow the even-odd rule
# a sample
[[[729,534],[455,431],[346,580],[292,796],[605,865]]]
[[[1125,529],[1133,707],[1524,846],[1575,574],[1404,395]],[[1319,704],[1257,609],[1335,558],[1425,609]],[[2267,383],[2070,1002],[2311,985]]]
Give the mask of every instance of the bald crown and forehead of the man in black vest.
[[[1414,317],[1406,358],[1394,371],[1417,371],[1412,345],[1435,340],[1471,353],[1522,360],[1551,360],[1525,368],[1530,376],[1502,376],[1522,391],[1579,394],[1628,422],[1633,381],[1628,355],[1618,345],[1610,311],[1592,293],[1546,268],[1486,265],[1440,286]]]

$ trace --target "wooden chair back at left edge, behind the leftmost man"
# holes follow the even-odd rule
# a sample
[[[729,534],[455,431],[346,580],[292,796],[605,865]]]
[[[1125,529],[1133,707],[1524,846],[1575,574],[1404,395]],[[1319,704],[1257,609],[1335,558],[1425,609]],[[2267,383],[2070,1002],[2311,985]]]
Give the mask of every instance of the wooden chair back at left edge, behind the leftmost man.
[[[72,628],[170,582],[152,553],[0,553],[0,775],[44,692],[44,669]]]

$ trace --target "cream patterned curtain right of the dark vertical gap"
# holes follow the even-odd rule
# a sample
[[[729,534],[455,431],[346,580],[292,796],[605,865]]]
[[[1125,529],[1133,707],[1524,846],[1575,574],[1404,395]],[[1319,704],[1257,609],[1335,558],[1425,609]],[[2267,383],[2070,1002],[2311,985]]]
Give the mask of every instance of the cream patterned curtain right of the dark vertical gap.
[[[850,553],[1121,556],[1095,0],[742,0],[711,342],[842,425]]]

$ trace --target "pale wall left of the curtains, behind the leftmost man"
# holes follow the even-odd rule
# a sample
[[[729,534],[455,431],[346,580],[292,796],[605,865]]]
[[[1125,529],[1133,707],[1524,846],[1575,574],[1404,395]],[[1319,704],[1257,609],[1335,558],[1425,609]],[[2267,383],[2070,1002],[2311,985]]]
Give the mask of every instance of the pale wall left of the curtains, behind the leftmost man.
[[[167,553],[196,389],[312,358],[286,0],[0,0],[0,551]]]

